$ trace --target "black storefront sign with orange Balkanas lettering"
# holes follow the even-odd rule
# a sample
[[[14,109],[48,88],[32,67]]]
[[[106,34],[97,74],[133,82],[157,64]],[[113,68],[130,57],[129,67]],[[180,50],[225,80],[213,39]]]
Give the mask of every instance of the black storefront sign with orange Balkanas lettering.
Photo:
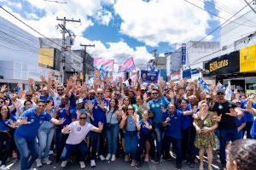
[[[227,75],[239,72],[239,52],[224,54],[205,63],[205,69],[209,71],[207,76]]]

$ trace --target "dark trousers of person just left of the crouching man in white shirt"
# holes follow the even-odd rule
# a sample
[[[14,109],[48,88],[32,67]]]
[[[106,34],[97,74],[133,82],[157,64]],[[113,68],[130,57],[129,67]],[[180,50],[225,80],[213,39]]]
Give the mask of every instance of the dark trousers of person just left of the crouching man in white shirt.
[[[61,158],[61,153],[66,144],[67,137],[68,137],[68,134],[61,133],[61,127],[56,129],[55,147],[57,151],[57,159]]]

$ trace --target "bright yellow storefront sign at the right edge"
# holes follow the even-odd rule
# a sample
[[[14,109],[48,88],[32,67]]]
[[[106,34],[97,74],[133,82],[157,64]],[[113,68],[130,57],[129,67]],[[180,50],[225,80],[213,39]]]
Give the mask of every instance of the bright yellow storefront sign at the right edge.
[[[256,44],[240,49],[240,72],[256,72]]]

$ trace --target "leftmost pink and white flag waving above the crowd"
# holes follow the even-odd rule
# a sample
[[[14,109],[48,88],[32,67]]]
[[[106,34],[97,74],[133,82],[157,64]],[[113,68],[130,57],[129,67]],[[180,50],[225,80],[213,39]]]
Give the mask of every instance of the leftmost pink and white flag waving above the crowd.
[[[94,59],[94,67],[96,70],[113,71],[113,61],[114,59],[96,58]]]

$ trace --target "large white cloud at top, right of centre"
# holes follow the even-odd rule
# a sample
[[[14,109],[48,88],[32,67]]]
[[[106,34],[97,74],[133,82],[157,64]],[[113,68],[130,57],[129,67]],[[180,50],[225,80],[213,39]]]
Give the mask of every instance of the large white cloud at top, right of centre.
[[[203,8],[200,1],[193,3]],[[197,40],[209,27],[209,14],[184,1],[117,0],[114,9],[123,20],[120,32],[149,46]]]

